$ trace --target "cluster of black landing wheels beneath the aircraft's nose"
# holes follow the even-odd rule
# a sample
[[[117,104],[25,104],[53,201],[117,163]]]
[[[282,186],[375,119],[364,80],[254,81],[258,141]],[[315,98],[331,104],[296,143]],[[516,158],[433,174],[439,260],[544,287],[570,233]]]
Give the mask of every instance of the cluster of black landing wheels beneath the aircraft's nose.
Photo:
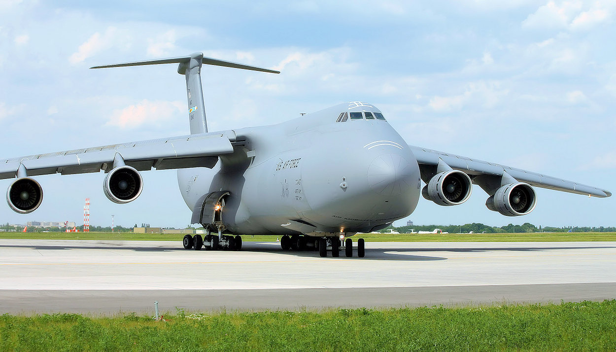
[[[346,257],[353,256],[353,240],[347,238],[342,242],[338,236],[335,237],[312,237],[284,235],[280,238],[280,247],[283,251],[293,249],[294,251],[318,251],[318,254],[322,257],[327,256],[327,251],[331,251],[332,257],[339,257],[340,250],[344,250]],[[365,256],[365,242],[363,238],[357,240],[357,257],[363,258]]]

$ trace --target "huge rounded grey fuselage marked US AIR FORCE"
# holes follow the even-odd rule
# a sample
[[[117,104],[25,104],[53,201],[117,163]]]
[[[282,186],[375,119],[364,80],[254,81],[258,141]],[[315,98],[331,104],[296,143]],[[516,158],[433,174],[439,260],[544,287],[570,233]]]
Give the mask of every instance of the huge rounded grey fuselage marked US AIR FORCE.
[[[357,105],[235,130],[235,152],[214,168],[177,171],[184,201],[193,209],[202,195],[229,191],[222,220],[227,232],[246,235],[298,233],[288,221],[369,232],[408,216],[421,193],[413,152],[386,120],[336,122],[342,112],[380,112]]]

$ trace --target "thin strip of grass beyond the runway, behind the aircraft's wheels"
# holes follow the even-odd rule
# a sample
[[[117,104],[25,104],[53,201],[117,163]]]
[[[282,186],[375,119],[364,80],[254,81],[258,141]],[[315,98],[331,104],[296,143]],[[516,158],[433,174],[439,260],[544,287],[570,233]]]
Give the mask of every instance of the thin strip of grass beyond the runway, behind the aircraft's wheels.
[[[26,240],[123,240],[123,241],[181,241],[184,235],[162,233],[111,232],[0,232],[0,239]],[[244,241],[275,241],[280,236],[243,235]],[[352,237],[369,242],[567,242],[616,241],[616,232],[552,232],[552,233],[448,233],[445,235],[402,233],[363,233]]]

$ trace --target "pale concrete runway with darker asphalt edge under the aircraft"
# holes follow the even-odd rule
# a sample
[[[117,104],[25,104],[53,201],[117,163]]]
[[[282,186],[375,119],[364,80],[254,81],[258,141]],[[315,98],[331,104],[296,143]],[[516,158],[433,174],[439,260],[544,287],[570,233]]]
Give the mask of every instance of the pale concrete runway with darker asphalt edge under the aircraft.
[[[277,243],[0,240],[0,314],[603,300],[615,262],[616,242],[368,242],[365,258],[321,258]]]

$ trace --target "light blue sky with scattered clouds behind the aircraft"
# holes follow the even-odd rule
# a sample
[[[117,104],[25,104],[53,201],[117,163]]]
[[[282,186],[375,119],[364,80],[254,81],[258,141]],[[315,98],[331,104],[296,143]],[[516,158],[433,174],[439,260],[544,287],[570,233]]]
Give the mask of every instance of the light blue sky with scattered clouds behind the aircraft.
[[[203,52],[279,69],[204,66],[210,131],[375,104],[407,143],[616,190],[616,1],[0,1],[0,159],[188,134],[176,65],[95,65]],[[116,205],[104,174],[37,176],[41,207],[0,223],[182,227],[172,170],[142,173]],[[13,180],[0,180],[0,189]],[[395,225],[614,226],[616,196],[537,189],[506,217],[474,187],[459,206],[419,200]]]

